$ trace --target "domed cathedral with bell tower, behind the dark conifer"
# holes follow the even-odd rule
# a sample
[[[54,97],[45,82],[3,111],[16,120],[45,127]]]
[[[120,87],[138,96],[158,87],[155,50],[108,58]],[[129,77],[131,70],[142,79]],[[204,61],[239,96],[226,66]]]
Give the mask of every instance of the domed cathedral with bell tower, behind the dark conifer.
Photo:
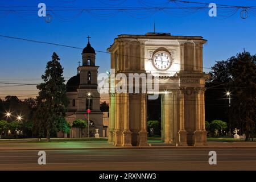
[[[103,130],[103,113],[100,110],[100,93],[98,93],[97,75],[98,66],[96,66],[96,53],[90,46],[90,37],[88,44],[82,50],[82,65],[77,68],[77,75],[71,77],[67,82],[67,97],[69,100],[66,119],[69,123],[76,119],[90,120],[90,137],[94,137],[96,129],[100,137]],[[79,62],[80,63],[80,62]],[[88,109],[89,116],[88,116]],[[88,128],[82,130],[71,128],[70,137],[88,137]]]

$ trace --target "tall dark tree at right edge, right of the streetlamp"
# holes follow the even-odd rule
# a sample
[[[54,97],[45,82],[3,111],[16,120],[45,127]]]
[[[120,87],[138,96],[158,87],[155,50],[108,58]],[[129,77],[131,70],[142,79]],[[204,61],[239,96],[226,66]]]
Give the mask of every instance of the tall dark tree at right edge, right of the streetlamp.
[[[239,53],[236,57],[239,64],[232,73],[236,75],[232,82],[234,87],[233,100],[230,109],[230,118],[233,126],[245,133],[245,140],[255,132],[256,121],[256,55],[249,52]]]

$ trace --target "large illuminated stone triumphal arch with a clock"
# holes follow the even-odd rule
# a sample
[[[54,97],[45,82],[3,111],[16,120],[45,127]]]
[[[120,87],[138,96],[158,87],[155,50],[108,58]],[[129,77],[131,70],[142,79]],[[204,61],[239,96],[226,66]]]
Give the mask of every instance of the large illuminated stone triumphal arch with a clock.
[[[207,144],[204,85],[208,75],[203,72],[206,42],[201,36],[168,33],[119,35],[114,39],[108,48],[114,75],[110,78],[109,142],[115,146],[147,146],[147,99],[158,94],[163,142],[175,146]],[[131,73],[150,74],[153,79],[146,80],[147,84],[157,89],[131,93],[135,86],[142,91],[145,80],[139,78],[139,84],[131,86],[115,77],[119,73],[127,80]],[[113,88],[120,81],[125,83],[121,87],[126,92]]]

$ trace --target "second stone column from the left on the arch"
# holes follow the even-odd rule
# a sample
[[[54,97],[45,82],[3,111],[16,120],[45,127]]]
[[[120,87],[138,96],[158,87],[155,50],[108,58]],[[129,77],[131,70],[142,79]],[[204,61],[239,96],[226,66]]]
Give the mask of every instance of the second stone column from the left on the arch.
[[[122,120],[121,120],[121,94],[115,94],[115,131],[114,131],[114,145],[122,145]]]

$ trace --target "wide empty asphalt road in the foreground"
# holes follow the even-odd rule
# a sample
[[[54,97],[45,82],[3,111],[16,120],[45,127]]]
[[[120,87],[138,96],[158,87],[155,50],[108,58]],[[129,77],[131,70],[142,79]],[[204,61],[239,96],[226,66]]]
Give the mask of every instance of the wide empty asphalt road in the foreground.
[[[256,148],[216,149],[217,165],[209,165],[203,148],[0,151],[0,170],[256,170]]]

